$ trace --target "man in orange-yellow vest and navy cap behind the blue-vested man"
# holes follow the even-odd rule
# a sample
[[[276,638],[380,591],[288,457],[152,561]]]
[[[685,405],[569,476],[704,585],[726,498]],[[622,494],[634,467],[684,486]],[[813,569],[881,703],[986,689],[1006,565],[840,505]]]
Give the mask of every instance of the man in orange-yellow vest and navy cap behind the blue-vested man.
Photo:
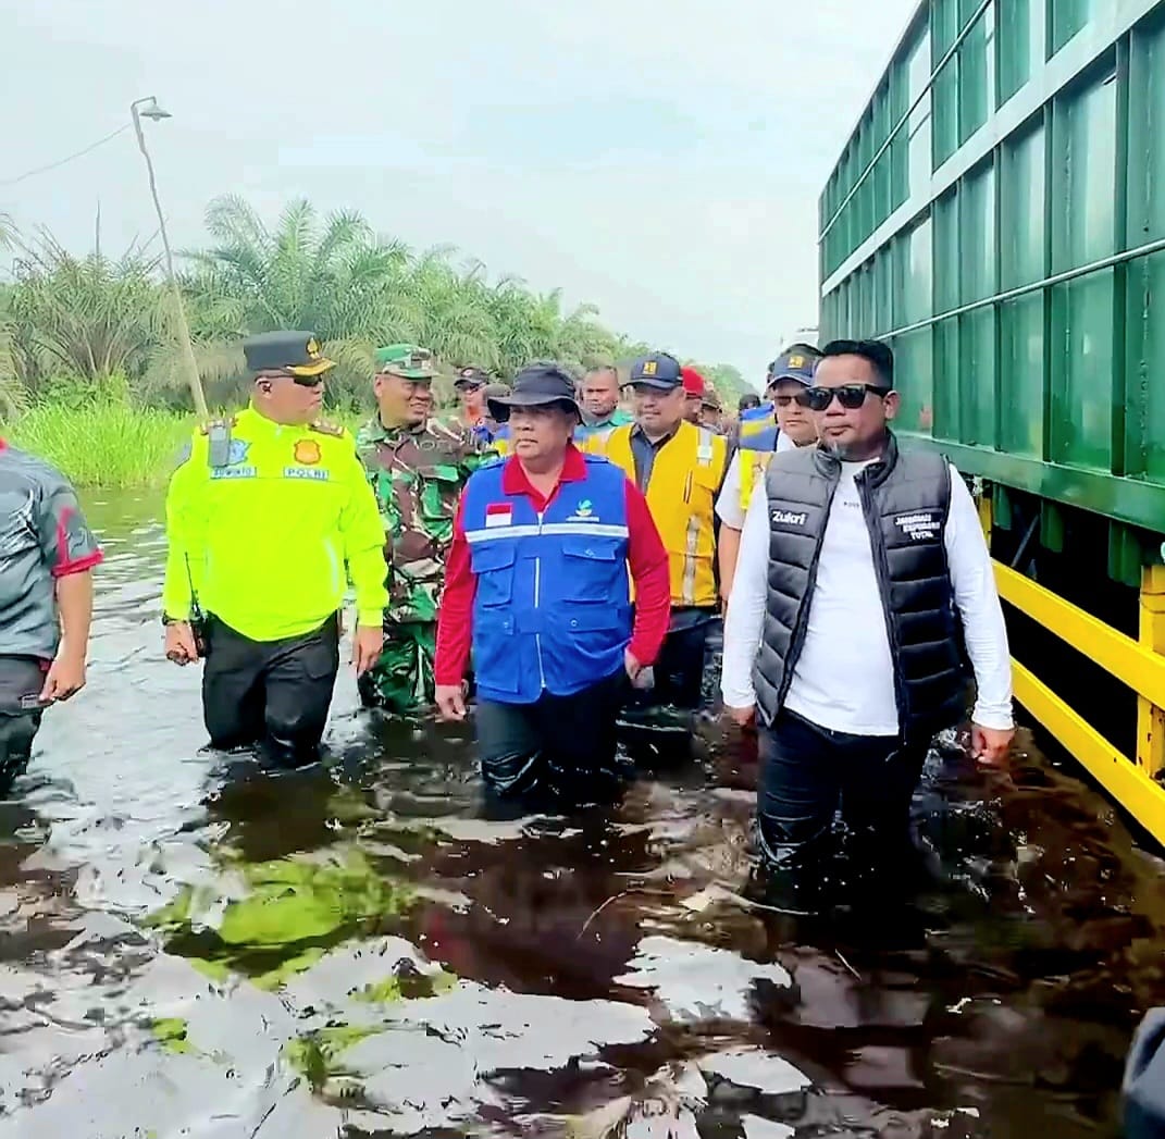
[[[685,418],[679,361],[664,352],[631,365],[635,423],[616,427],[603,454],[647,495],[668,549],[671,625],[655,665],[657,703],[700,703],[708,634],[719,622],[714,512],[725,475],[722,436]]]

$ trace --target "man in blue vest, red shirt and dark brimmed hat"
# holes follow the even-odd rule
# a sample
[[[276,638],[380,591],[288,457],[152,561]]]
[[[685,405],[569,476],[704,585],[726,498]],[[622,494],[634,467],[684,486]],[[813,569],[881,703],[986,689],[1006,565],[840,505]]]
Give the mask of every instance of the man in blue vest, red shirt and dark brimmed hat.
[[[585,801],[607,793],[628,678],[664,638],[668,554],[622,471],[574,446],[579,410],[560,368],[523,369],[492,409],[510,424],[513,454],[478,471],[461,496],[437,628],[437,703],[445,719],[464,719],[472,643],[489,790],[545,787]]]

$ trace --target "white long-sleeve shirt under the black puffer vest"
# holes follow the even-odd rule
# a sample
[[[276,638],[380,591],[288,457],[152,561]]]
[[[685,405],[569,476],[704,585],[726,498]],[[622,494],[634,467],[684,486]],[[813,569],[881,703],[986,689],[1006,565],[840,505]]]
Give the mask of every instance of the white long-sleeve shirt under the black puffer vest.
[[[805,643],[785,707],[833,731],[862,736],[898,733],[894,658],[874,572],[869,531],[854,476],[866,464],[843,462],[826,519]],[[975,672],[972,719],[1005,729],[1011,717],[1011,655],[991,559],[974,500],[951,468],[951,509],[944,531],[955,604]],[[769,503],[757,488],[741,535],[725,621],[720,691],[732,708],[756,703],[753,665],[761,644],[768,592]]]

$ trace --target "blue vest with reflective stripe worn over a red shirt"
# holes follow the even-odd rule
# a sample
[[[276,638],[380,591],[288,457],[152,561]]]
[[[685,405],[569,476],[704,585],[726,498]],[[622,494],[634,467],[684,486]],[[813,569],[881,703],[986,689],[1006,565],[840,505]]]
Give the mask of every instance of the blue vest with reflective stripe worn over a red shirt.
[[[499,703],[570,695],[623,666],[631,637],[627,479],[584,455],[586,479],[564,482],[539,517],[502,489],[504,464],[481,467],[463,494],[478,579],[473,672]]]

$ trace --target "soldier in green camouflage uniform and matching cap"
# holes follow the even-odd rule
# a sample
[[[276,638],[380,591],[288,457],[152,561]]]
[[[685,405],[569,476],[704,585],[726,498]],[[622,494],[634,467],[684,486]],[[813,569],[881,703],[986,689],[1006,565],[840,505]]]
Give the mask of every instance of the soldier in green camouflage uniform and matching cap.
[[[466,479],[493,451],[431,417],[432,353],[397,344],[376,353],[377,415],[356,446],[384,521],[389,603],[380,662],[360,677],[365,707],[401,715],[433,702],[437,606],[445,552]]]

